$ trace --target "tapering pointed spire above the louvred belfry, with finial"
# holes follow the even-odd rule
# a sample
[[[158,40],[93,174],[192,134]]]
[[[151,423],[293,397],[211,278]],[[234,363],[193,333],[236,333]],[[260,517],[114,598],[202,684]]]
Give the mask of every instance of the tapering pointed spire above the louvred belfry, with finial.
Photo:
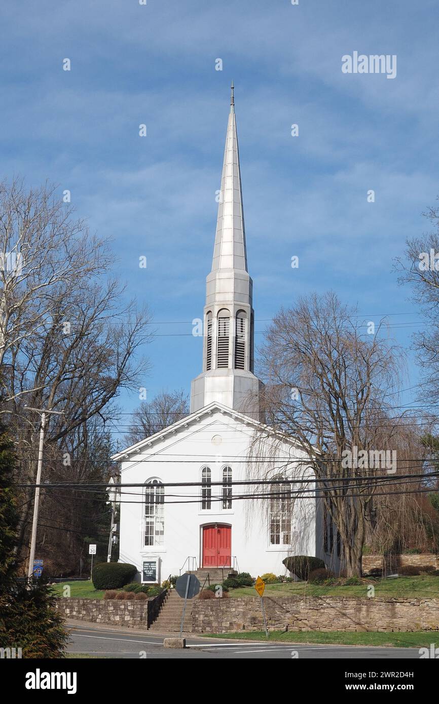
[[[232,81],[230,115],[225,137],[223,175],[221,177],[212,271],[219,269],[247,271],[240,154],[237,146],[235,97],[233,92],[234,85]]]

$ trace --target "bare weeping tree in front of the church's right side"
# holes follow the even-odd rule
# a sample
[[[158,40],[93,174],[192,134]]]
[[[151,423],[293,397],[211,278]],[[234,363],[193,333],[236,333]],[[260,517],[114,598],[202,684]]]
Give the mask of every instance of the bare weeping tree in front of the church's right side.
[[[392,449],[397,427],[392,405],[402,358],[379,332],[378,326],[374,335],[361,334],[357,310],[335,294],[313,295],[280,310],[261,349],[266,420],[280,443],[290,436],[306,451],[297,477],[312,468],[348,576],[361,574],[371,498],[380,485],[375,477],[386,472],[381,453]],[[262,462],[253,471],[265,478],[271,470]]]

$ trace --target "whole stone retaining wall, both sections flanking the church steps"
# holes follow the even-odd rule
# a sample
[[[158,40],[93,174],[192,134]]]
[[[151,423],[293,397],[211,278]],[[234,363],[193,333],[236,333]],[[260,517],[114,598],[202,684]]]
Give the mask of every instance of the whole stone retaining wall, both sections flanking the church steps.
[[[56,606],[66,619],[146,629],[152,602],[59,598]],[[192,603],[193,633],[264,629],[259,597]],[[439,631],[439,598],[264,596],[264,605],[272,631]]]

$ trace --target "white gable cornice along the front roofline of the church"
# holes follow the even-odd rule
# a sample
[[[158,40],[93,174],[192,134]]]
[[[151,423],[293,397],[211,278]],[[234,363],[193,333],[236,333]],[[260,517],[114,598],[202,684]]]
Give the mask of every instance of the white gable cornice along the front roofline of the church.
[[[215,411],[219,411],[220,413],[225,413],[228,416],[232,417],[233,419],[239,420],[240,422],[244,423],[245,425],[248,425],[249,427],[253,427],[255,430],[259,430],[260,432],[264,432],[268,435],[276,437],[277,439],[284,440],[285,443],[293,445],[296,448],[302,450],[303,452],[306,452],[305,448],[303,448],[299,444],[299,442],[297,440],[295,440],[294,438],[287,436],[287,435],[284,435],[283,433],[277,432],[269,425],[266,425],[265,423],[261,423],[261,422],[259,422],[259,420],[254,420],[254,418],[251,418],[248,415],[245,415],[244,413],[240,413],[237,410],[233,410],[233,408],[228,408],[228,406],[223,406],[223,404],[218,403],[218,401],[214,401],[213,403],[209,403],[208,406],[204,406],[204,408],[200,408],[199,410],[195,411],[194,413],[190,413],[190,415],[186,415],[184,418],[182,418],[182,420],[178,420],[177,422],[173,423],[172,425],[168,425],[167,428],[160,430],[158,433],[154,433],[154,435],[150,435],[149,437],[145,438],[144,440],[137,442],[135,445],[131,445],[130,447],[126,448],[125,450],[122,450],[122,451],[116,453],[116,455],[112,455],[111,459],[114,461],[123,461],[125,458],[128,457],[128,455],[131,455],[132,453],[138,453],[144,447],[151,446],[152,444],[154,444],[155,442],[157,442],[159,440],[164,440],[166,438],[166,436],[174,434],[175,432],[178,432],[178,430],[190,426],[192,423],[196,422],[197,420],[200,420],[204,415],[211,415]]]

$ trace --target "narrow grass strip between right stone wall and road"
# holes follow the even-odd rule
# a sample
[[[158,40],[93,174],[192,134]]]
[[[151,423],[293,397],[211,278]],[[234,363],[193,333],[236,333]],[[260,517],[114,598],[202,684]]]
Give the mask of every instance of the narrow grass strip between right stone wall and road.
[[[239,633],[204,633],[209,638],[239,639],[245,641],[267,641],[265,631],[240,631]],[[301,633],[273,631],[268,641],[283,643],[332,643],[344,646],[387,646],[393,648],[428,648],[430,643],[439,643],[438,632],[427,633]]]

